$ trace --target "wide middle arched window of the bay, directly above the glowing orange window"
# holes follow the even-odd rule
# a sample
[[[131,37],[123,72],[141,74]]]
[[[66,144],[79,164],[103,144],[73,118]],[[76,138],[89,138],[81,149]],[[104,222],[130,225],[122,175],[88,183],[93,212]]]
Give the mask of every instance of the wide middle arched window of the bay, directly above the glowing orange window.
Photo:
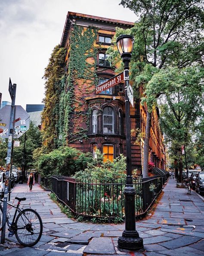
[[[103,109],[103,133],[114,133],[114,114],[111,107]]]

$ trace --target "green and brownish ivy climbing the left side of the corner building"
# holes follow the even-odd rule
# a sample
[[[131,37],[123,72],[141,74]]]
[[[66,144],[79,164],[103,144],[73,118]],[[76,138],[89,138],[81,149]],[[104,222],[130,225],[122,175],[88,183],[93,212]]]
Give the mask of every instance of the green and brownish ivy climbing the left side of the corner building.
[[[87,138],[90,108],[84,97],[95,90],[98,30],[74,25],[67,49],[57,45],[45,69],[45,109],[42,113],[43,145],[51,151],[81,138]],[[86,125],[84,125],[86,124]]]

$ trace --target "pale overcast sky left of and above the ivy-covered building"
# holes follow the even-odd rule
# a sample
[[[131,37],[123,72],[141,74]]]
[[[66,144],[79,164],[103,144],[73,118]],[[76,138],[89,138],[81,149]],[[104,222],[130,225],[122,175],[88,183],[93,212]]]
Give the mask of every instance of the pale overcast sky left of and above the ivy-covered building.
[[[15,105],[41,104],[44,68],[59,44],[68,11],[134,22],[120,0],[0,0],[0,93],[11,101],[9,77],[17,84]]]

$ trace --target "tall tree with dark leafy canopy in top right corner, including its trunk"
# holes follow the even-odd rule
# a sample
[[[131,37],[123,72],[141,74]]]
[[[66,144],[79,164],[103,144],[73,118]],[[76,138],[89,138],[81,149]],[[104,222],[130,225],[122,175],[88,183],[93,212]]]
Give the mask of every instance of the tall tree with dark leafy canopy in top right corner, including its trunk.
[[[148,82],[159,70],[169,66],[183,68],[195,63],[203,65],[203,3],[202,0],[121,0],[121,5],[139,16],[139,21],[131,29],[131,34],[136,39],[132,58],[135,63],[132,64],[131,71],[135,85],[144,88],[143,101],[148,98]],[[144,68],[146,65],[149,68]],[[158,71],[149,72],[151,67]],[[136,79],[138,75],[140,80]],[[169,77],[169,74],[166,75]],[[148,176],[149,134],[154,103],[155,99],[148,102],[144,177]]]

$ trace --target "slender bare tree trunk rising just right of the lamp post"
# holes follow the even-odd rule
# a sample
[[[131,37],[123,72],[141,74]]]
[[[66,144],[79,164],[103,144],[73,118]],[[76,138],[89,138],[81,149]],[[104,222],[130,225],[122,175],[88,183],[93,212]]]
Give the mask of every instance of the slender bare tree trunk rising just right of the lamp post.
[[[144,163],[143,163],[143,178],[148,177],[148,160],[149,160],[149,138],[151,128],[151,112],[147,111],[147,122],[145,127],[145,144],[144,144]]]

